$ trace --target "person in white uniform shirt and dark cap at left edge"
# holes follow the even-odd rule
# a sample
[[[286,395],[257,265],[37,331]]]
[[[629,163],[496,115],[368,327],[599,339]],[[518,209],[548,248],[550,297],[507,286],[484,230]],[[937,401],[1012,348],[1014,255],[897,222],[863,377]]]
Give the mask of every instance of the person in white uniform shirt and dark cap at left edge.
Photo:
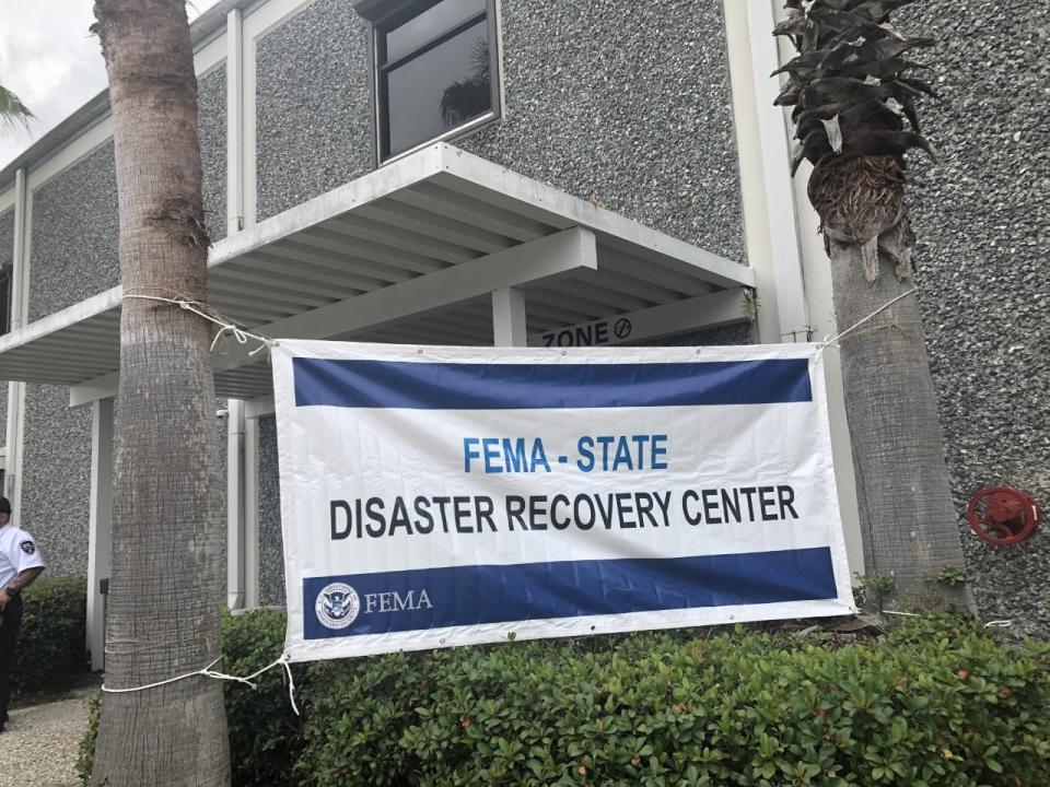
[[[11,503],[0,497],[0,732],[8,723],[14,643],[22,624],[22,590],[43,571],[36,542],[11,522]]]

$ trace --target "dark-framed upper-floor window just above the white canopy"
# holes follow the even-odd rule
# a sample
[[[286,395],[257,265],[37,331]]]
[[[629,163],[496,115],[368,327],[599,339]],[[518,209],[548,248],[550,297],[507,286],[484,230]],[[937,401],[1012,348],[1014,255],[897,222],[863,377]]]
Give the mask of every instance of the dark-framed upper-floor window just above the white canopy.
[[[380,160],[499,113],[494,0],[412,3],[375,27]]]

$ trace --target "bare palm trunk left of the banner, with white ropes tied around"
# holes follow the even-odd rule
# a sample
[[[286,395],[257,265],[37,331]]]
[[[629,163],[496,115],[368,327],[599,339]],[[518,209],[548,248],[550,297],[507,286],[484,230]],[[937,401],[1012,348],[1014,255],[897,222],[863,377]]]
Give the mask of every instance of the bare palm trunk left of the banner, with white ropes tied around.
[[[106,684],[208,666],[223,601],[197,81],[184,0],[96,0],[120,207],[120,387]],[[230,784],[222,686],[201,677],[106,694],[93,782]]]

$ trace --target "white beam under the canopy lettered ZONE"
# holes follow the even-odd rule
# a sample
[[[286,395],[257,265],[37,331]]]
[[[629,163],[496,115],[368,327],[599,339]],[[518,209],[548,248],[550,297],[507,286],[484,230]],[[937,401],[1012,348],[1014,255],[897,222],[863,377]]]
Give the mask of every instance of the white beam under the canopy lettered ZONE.
[[[581,322],[533,333],[529,346],[612,345],[685,331],[718,328],[750,319],[745,306],[746,287],[675,301],[600,320]]]

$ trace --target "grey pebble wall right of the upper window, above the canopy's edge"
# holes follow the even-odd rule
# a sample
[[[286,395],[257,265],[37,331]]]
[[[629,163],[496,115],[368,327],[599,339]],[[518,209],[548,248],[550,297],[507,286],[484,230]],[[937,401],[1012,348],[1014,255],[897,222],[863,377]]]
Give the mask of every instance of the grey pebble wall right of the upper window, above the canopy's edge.
[[[722,3],[503,0],[506,111],[454,141],[744,260]]]

